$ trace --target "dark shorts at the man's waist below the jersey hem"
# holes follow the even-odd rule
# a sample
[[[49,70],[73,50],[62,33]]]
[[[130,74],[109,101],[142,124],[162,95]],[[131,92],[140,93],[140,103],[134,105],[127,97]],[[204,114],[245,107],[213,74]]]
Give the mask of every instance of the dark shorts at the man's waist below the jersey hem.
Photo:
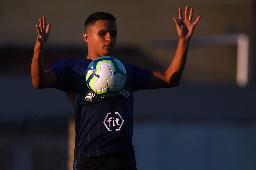
[[[73,170],[136,170],[136,160],[120,153],[109,153],[74,161]]]

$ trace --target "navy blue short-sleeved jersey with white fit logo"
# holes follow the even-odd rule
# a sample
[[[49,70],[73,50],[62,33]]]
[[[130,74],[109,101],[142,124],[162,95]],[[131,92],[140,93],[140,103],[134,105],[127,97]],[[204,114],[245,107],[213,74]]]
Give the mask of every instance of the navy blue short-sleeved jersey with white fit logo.
[[[85,72],[91,61],[65,59],[50,69],[58,77],[55,88],[66,92],[75,110],[74,160],[111,152],[123,153],[135,159],[132,93],[147,89],[153,70],[123,63],[127,72],[125,87],[115,96],[99,97],[86,85]]]

